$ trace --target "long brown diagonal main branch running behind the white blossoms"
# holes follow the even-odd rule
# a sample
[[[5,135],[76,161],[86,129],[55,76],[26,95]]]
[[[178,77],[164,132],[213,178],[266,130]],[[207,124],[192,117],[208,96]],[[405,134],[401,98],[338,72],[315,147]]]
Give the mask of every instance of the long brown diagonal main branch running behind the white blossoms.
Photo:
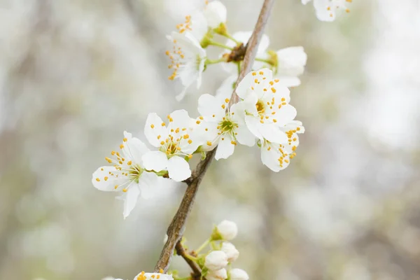
[[[253,34],[246,44],[244,62],[242,63],[241,71],[239,73],[236,85],[239,84],[242,78],[244,78],[244,76],[246,76],[249,71],[251,71],[255,55],[257,54],[258,44],[260,43],[260,39],[264,33],[264,28],[267,24],[269,12],[273,6],[273,3],[274,0],[265,0],[264,4],[262,5],[260,16],[258,17],[258,21],[255,25]],[[235,104],[239,101],[239,97],[237,97],[235,90],[232,93],[229,106],[232,106],[232,104]],[[197,167],[195,167],[195,170],[193,171],[190,179],[186,180],[186,183],[188,184],[186,193],[184,194],[181,205],[179,206],[178,211],[176,211],[176,214],[167,230],[168,240],[162,249],[162,253],[160,253],[160,258],[155,266],[155,272],[159,272],[160,269],[163,269],[164,272],[167,272],[167,269],[169,268],[169,263],[171,262],[174,249],[183,235],[188,214],[190,214],[191,208],[193,207],[198,187],[200,186],[204,174],[206,174],[207,167],[209,167],[210,162],[214,157],[214,153],[216,153],[216,149],[208,152],[206,158],[200,161]]]

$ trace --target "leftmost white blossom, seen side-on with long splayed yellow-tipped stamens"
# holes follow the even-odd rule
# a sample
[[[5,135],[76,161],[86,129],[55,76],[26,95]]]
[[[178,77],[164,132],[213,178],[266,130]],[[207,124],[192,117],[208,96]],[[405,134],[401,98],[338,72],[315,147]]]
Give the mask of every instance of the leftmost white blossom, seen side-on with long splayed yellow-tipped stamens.
[[[142,156],[149,152],[146,145],[131,133],[124,132],[120,152],[112,151],[106,161],[113,166],[99,167],[92,174],[92,183],[98,190],[122,192],[119,198],[124,200],[124,218],[136,206],[137,198],[148,198],[153,194],[153,186],[158,183],[158,176],[147,172]]]

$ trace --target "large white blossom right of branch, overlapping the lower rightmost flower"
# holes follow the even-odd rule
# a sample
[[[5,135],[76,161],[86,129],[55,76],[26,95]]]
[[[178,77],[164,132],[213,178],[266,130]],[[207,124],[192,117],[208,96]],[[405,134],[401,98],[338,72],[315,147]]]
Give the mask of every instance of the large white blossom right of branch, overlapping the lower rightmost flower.
[[[296,109],[288,104],[290,91],[272,79],[272,71],[261,69],[248,73],[239,83],[239,102],[246,111],[245,122],[248,129],[260,141],[286,143],[286,134],[280,130],[296,116]]]

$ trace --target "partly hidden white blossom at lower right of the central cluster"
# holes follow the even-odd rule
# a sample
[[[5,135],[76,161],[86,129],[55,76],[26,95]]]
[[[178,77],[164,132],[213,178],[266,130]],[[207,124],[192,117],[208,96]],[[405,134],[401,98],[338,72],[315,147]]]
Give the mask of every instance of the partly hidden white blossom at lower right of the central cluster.
[[[269,169],[279,172],[290,164],[290,160],[296,155],[296,148],[299,146],[297,134],[304,132],[304,127],[300,121],[294,120],[281,130],[286,133],[288,140],[281,144],[274,144],[269,141],[261,142],[261,161]]]

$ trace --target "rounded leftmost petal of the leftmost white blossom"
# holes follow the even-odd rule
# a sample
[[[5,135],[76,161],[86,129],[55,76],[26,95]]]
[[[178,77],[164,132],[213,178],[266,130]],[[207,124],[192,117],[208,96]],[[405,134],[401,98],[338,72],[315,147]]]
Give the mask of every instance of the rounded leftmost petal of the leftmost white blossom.
[[[111,172],[114,175],[119,175],[121,172],[116,169],[116,167],[104,166],[99,167],[92,174],[92,184],[98,190],[104,190],[106,192],[116,191],[115,186],[121,185],[127,181],[123,176],[112,176],[109,174]],[[106,179],[106,180],[105,180]],[[98,181],[99,180],[99,181]]]

